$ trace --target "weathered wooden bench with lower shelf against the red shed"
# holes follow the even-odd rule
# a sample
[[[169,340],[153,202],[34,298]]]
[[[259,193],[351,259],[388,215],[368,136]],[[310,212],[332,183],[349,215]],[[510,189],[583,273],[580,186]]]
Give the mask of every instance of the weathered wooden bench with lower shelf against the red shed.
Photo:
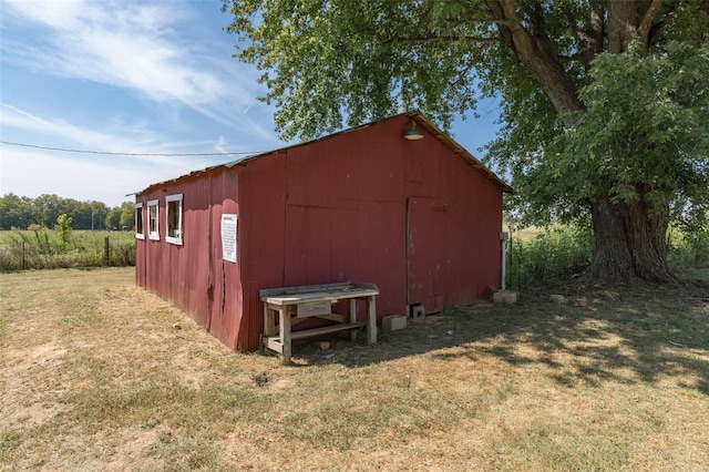
[[[299,287],[267,288],[259,290],[264,302],[264,335],[261,346],[284,355],[284,363],[290,363],[291,341],[294,339],[330,335],[343,330],[367,327],[367,341],[377,342],[377,306],[379,288],[374,284],[339,283],[306,285]],[[348,300],[348,315],[332,312],[332,305]],[[367,321],[357,321],[357,300],[367,302]],[[335,321],[333,325],[319,328],[291,331],[292,326],[311,317]],[[278,320],[278,324],[276,324]]]

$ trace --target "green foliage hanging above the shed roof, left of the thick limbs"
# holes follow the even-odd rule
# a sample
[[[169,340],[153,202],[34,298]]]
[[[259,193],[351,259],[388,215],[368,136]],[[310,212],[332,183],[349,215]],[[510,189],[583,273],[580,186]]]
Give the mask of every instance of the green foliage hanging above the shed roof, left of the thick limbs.
[[[490,32],[466,21],[463,2],[425,3],[234,0],[225,9],[237,57],[264,71],[277,131],[307,140],[414,107],[449,125],[474,107],[480,44],[434,35]]]

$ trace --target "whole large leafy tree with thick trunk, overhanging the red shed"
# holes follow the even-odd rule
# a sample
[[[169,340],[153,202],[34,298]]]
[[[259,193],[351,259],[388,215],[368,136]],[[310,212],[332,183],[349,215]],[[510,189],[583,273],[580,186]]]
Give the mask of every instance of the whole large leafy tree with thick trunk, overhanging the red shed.
[[[674,279],[671,215],[709,202],[709,1],[224,1],[285,138],[499,96],[518,208],[590,219],[590,277]]]

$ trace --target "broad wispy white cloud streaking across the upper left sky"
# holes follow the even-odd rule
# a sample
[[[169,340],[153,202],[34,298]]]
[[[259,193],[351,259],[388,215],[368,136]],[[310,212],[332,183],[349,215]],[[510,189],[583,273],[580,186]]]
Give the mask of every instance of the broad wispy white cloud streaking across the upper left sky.
[[[251,135],[269,129],[236,112],[256,103],[256,71],[214,52],[214,42],[181,34],[188,2],[3,0],[3,16],[39,29],[31,41],[3,41],[6,61],[64,78],[183,103]],[[218,3],[215,2],[215,8]],[[224,45],[224,44],[222,44]],[[222,55],[223,52],[223,55]]]

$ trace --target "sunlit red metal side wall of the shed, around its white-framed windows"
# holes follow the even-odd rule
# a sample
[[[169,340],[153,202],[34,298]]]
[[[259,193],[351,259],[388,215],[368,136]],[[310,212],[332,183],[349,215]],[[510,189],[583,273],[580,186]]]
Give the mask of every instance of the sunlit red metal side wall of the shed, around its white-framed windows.
[[[223,184],[225,179],[227,185]],[[216,185],[213,181],[216,181]],[[147,202],[158,201],[160,240],[146,237],[136,245],[136,275],[140,277],[141,274],[145,274],[141,286],[189,314],[199,325],[232,348],[235,346],[238,318],[242,314],[240,286],[238,267],[232,263],[223,264],[219,230],[223,211],[238,213],[234,202],[237,195],[235,182],[236,171],[222,172],[214,176],[203,174],[169,182],[136,197],[144,204],[146,227]],[[215,186],[216,192],[213,191]],[[223,193],[222,188],[226,191]],[[228,199],[229,193],[232,201]],[[183,194],[182,246],[167,243],[165,239],[165,197],[174,194]],[[224,287],[229,288],[227,293],[224,291]],[[215,296],[217,304],[214,302]]]

